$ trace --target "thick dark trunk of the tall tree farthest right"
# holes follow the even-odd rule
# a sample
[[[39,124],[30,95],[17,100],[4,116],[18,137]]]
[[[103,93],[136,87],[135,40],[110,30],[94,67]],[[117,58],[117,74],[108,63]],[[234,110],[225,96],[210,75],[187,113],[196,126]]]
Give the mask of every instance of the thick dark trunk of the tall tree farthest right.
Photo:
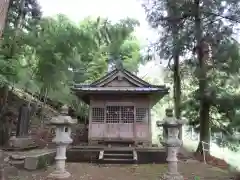
[[[200,142],[197,148],[197,152],[203,153],[202,151],[202,141],[209,143],[210,142],[210,122],[209,122],[209,111],[210,111],[210,104],[206,98],[206,90],[207,90],[207,70],[205,64],[204,55],[204,40],[203,40],[203,32],[201,28],[201,16],[200,16],[200,0],[194,1],[195,5],[195,37],[196,37],[196,52],[197,58],[199,62],[199,96],[200,96]],[[208,147],[204,147],[204,149]]]

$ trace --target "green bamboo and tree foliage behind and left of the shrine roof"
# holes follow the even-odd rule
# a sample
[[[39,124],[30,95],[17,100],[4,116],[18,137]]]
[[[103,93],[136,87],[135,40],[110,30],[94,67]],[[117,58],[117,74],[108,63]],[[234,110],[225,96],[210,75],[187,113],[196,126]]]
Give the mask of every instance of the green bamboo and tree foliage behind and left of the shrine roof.
[[[121,56],[124,67],[136,72],[143,59],[132,35],[137,25],[129,18],[117,23],[86,18],[80,24],[61,14],[43,18],[37,1],[11,0],[0,47],[0,84],[68,104],[85,116],[87,107],[71,85],[103,76],[109,55]]]

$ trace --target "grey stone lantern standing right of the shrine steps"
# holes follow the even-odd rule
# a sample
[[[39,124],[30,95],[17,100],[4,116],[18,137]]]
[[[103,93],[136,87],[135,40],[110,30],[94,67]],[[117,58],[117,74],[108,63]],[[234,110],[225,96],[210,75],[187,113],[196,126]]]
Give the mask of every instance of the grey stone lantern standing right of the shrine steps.
[[[178,138],[179,128],[184,124],[184,121],[173,117],[173,110],[166,109],[166,117],[163,121],[157,121],[157,127],[163,127],[163,144],[167,148],[168,171],[163,175],[164,180],[183,180],[183,176],[178,172],[177,153],[182,145],[182,140]]]

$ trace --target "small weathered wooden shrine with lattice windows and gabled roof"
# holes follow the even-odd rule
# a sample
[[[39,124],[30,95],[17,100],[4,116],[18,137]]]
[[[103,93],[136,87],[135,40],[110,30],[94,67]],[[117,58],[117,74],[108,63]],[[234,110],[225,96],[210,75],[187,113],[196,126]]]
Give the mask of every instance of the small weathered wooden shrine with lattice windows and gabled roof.
[[[151,146],[151,108],[168,93],[125,69],[115,69],[89,85],[75,84],[89,105],[89,144],[127,143]]]

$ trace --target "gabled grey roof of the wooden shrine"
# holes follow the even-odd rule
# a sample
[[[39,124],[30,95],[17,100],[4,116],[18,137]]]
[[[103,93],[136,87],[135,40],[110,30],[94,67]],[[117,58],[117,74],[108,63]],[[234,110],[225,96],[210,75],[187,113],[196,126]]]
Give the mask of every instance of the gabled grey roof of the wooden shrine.
[[[116,78],[121,81],[129,83],[128,85],[115,86]],[[110,83],[110,84],[109,84]],[[109,84],[109,85],[108,85]],[[125,69],[115,69],[104,77],[98,79],[91,84],[75,84],[72,87],[76,95],[81,98],[85,103],[90,103],[91,94],[146,94],[151,95],[152,105],[160,100],[164,95],[169,93],[169,88],[166,86],[157,86],[149,84],[148,82],[140,79],[136,75]]]

